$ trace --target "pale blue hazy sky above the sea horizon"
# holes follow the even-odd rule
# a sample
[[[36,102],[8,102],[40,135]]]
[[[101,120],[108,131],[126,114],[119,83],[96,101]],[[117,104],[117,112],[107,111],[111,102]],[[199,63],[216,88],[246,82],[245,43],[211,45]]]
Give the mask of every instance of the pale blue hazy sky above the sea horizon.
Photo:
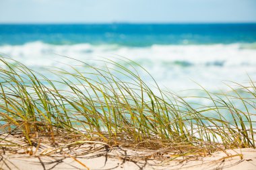
[[[256,22],[256,0],[0,0],[0,23]]]

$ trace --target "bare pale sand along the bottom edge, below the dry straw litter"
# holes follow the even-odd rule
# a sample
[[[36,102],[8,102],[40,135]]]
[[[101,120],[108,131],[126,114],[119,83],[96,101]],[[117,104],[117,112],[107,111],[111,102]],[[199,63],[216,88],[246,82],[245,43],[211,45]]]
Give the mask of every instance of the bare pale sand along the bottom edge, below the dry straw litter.
[[[229,156],[226,155],[228,153]],[[195,160],[177,159],[161,161],[113,158],[111,153],[100,151],[77,157],[1,155],[1,169],[255,169],[256,151],[252,148],[227,150]],[[237,155],[238,153],[238,155]],[[243,155],[241,159],[240,154]],[[166,160],[167,161],[167,160]],[[86,167],[84,165],[86,165]]]

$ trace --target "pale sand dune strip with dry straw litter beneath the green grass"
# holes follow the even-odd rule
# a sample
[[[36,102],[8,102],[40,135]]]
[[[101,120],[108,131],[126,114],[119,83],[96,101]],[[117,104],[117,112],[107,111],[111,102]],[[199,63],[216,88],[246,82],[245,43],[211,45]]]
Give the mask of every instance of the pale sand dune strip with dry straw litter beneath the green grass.
[[[88,141],[84,144],[28,146],[23,138],[2,134],[22,147],[2,147],[0,169],[255,169],[256,150],[239,148],[217,151],[206,157],[158,151],[130,149],[122,146],[108,148],[104,143]],[[3,141],[1,142],[3,144]],[[5,142],[6,144],[6,142]],[[12,150],[10,149],[12,148]],[[32,149],[32,150],[30,150]]]

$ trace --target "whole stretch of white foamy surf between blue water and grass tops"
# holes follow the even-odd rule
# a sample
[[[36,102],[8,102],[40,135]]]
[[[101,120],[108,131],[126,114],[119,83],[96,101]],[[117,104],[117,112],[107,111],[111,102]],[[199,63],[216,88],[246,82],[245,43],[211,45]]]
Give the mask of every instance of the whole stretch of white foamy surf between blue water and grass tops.
[[[61,62],[72,64],[71,60],[57,54],[84,61],[120,55],[135,60],[148,69],[160,84],[179,91],[198,87],[193,81],[208,89],[218,89],[224,86],[222,80],[243,82],[249,79],[247,74],[256,79],[256,49],[251,46],[246,48],[247,46],[245,44],[156,44],[131,47],[115,44],[53,45],[31,42],[24,45],[0,46],[0,52],[33,68],[65,67]]]

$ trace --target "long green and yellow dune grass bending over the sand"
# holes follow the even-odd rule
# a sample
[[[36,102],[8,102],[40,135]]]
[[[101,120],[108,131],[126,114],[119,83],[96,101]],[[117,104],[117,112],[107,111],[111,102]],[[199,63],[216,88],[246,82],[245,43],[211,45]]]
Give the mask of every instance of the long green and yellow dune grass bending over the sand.
[[[108,67],[94,67],[76,60],[80,66],[55,68],[57,79],[51,80],[18,61],[0,58],[1,132],[20,133],[30,145],[38,134],[52,144],[66,136],[70,143],[92,140],[109,146],[172,148],[181,154],[255,148],[253,80],[247,86],[232,83],[236,88],[221,93],[202,87],[205,95],[193,98],[209,105],[199,105],[160,89],[146,71],[155,83],[148,85],[138,73],[145,70],[126,61],[126,67],[108,59],[95,61]]]

